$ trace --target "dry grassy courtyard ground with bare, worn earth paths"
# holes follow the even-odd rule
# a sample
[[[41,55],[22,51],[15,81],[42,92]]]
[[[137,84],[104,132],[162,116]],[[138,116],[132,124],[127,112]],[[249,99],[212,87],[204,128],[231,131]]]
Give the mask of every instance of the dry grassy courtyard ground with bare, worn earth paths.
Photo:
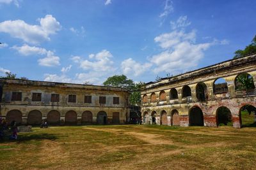
[[[256,127],[35,127],[1,142],[0,160],[0,169],[256,169]]]

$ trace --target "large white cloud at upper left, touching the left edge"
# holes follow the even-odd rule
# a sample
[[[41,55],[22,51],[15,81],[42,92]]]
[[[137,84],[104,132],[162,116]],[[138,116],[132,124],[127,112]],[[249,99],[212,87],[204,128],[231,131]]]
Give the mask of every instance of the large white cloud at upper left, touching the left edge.
[[[50,40],[49,36],[60,31],[61,25],[52,15],[38,18],[40,25],[29,25],[24,20],[6,20],[0,22],[0,32],[10,34],[14,38],[22,39],[27,43],[37,44]]]

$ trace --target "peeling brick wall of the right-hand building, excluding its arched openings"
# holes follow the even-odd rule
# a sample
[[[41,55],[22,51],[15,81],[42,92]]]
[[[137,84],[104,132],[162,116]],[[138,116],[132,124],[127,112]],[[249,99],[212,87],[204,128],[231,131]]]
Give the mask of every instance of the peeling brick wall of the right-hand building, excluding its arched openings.
[[[147,102],[142,103],[141,113],[148,113],[147,124],[152,122],[152,113],[157,113],[157,124],[161,123],[161,113],[166,111],[168,125],[172,125],[172,111],[179,112],[180,125],[189,125],[189,113],[192,108],[198,107],[204,115],[205,126],[216,126],[216,110],[220,106],[227,107],[232,113],[234,127],[241,127],[240,110],[246,104],[256,107],[256,90],[236,90],[236,77],[241,73],[248,73],[252,76],[256,85],[256,55],[250,55],[236,60],[229,60],[214,66],[205,67],[189,73],[180,74],[172,78],[164,78],[161,81],[147,83],[141,92],[141,99],[146,98]],[[214,81],[224,78],[227,82],[228,91],[214,93]],[[201,101],[196,97],[196,85],[205,84],[205,100]],[[188,85],[191,89],[191,96],[182,97],[182,88]],[[221,85],[222,87],[223,85]],[[218,86],[216,86],[218,87]],[[178,99],[171,99],[170,90],[175,88],[178,92]],[[160,93],[166,94],[166,100],[160,99]],[[156,102],[150,101],[151,94],[156,94]],[[177,121],[177,116],[175,116]],[[177,122],[175,122],[177,124]]]

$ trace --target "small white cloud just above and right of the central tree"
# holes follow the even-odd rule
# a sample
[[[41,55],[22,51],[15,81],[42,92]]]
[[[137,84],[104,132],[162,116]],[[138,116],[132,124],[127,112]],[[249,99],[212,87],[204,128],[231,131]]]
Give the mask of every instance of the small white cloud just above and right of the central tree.
[[[132,74],[134,76],[139,76],[145,73],[151,66],[151,63],[146,62],[145,64],[140,64],[131,58],[124,60],[121,64],[124,74]]]

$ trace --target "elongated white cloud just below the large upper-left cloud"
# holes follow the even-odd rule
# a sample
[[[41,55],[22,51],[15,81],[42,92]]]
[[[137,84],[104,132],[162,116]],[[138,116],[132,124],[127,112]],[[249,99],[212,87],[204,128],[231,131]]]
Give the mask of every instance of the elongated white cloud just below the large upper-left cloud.
[[[20,55],[46,55],[46,57],[42,59],[38,59],[38,64],[40,66],[59,66],[60,65],[60,57],[54,55],[54,52],[50,50],[46,50],[45,48],[40,48],[37,46],[29,46],[29,45],[22,45],[22,46],[12,46],[12,49],[17,50]]]

